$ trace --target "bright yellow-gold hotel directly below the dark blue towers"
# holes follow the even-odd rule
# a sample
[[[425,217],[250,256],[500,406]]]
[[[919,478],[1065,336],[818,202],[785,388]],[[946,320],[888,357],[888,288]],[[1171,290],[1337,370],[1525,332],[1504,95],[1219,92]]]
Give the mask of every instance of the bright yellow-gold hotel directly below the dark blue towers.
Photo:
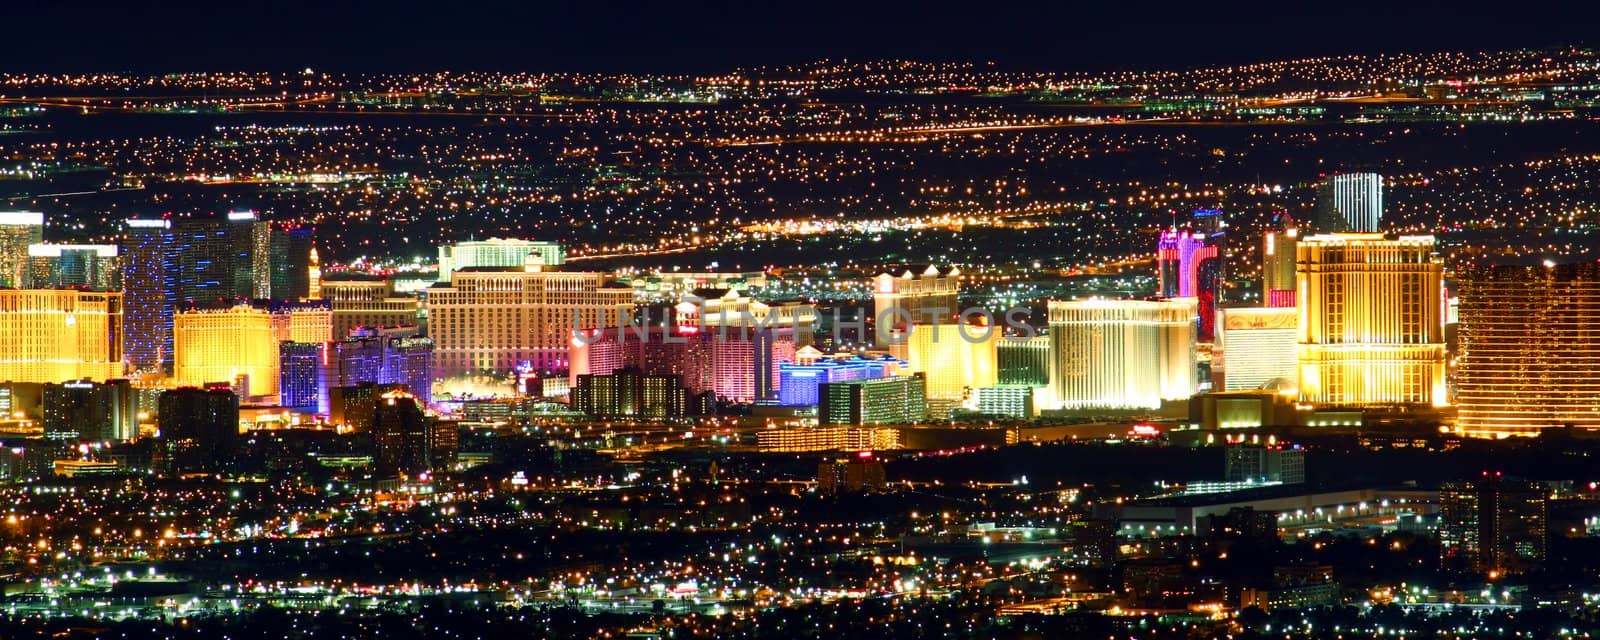
[[[278,394],[278,342],[326,342],[325,301],[187,304],[173,317],[173,378],[184,386],[232,384],[242,397]]]

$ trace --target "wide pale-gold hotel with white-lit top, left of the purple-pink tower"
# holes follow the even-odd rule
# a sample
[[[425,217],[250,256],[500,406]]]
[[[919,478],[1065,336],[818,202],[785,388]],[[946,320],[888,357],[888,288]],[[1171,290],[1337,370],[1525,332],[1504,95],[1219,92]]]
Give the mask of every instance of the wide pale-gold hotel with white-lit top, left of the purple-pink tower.
[[[1050,408],[1155,410],[1195,394],[1194,298],[1051,301]]]

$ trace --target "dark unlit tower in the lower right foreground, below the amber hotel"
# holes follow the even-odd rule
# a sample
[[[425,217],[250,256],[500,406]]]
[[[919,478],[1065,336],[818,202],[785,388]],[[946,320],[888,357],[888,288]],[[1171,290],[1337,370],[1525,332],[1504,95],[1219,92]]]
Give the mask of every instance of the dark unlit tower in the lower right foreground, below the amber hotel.
[[[1544,566],[1550,491],[1538,482],[1448,482],[1438,490],[1440,565],[1446,571],[1506,576]]]

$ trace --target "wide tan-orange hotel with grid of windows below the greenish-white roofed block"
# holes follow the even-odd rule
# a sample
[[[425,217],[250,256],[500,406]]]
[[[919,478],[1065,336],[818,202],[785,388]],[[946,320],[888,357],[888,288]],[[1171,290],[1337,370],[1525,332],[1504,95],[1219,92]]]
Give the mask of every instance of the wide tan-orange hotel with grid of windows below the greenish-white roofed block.
[[[522,269],[458,269],[427,290],[434,373],[560,371],[574,331],[616,326],[634,314],[634,290],[605,274]]]

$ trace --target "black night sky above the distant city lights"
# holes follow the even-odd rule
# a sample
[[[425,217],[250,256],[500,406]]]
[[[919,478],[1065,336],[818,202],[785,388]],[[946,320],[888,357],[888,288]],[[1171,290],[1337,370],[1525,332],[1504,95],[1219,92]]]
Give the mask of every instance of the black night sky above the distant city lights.
[[[1600,38],[1592,2],[8,2],[0,70],[715,72],[819,58],[1181,67]]]

